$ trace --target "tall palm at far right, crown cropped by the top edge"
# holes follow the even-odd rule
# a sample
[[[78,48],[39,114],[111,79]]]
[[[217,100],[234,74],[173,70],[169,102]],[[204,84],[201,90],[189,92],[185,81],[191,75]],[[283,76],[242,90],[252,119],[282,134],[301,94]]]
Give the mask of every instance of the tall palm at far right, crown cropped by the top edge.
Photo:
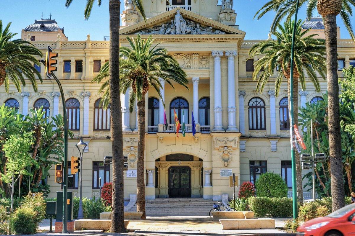
[[[271,25],[274,31],[276,25],[286,16],[288,19],[295,13],[297,0],[269,0],[256,14],[258,19],[269,11],[276,11]],[[328,80],[328,115],[329,115],[329,150],[332,177],[332,210],[345,206],[344,176],[342,167],[342,144],[340,136],[339,116],[339,84],[338,84],[338,58],[337,58],[337,19],[340,14],[351,38],[355,41],[354,31],[351,27],[351,16],[355,6],[354,0],[300,0],[300,7],[307,4],[307,17],[312,17],[318,10],[324,20],[324,33],[326,37],[327,52],[327,80]]]

